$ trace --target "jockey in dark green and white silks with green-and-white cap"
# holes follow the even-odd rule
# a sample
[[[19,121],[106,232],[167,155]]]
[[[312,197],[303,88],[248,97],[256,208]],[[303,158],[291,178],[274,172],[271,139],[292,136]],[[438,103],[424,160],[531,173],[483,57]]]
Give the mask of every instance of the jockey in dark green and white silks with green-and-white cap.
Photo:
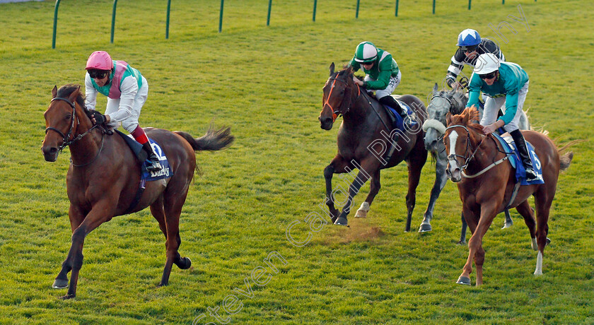
[[[363,81],[354,78],[355,83],[368,90],[375,90],[375,97],[380,103],[397,110],[403,119],[407,118],[407,113],[391,96],[402,78],[402,73],[392,54],[378,49],[371,42],[361,42],[357,45],[349,65],[354,71],[363,69],[366,74]]]

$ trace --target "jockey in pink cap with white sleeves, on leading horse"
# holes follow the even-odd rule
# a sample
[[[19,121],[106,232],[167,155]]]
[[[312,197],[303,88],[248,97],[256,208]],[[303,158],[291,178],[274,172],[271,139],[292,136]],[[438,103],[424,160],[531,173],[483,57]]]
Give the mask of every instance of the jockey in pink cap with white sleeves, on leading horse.
[[[86,64],[85,88],[86,107],[95,110],[97,93],[107,96],[105,115],[96,112],[95,124],[107,123],[117,128],[122,124],[148,154],[147,169],[151,172],[161,170],[157,155],[151,148],[138,119],[142,105],[148,95],[148,82],[140,72],[124,61],[112,61],[110,54],[96,51],[88,57]]]

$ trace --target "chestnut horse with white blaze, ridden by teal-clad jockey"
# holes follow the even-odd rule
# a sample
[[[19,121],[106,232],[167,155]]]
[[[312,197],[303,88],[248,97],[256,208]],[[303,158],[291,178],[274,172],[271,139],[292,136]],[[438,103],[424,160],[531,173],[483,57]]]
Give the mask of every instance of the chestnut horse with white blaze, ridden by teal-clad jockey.
[[[553,141],[544,134],[522,131],[540,160],[535,160],[535,165],[540,164],[542,167],[544,184],[520,186],[513,196],[515,170],[508,162],[499,164],[505,158],[506,150],[499,148],[500,145],[493,136],[484,136],[483,126],[475,123],[478,119],[479,112],[475,107],[467,108],[462,114],[448,114],[448,127],[443,137],[448,153],[448,177],[458,184],[462,212],[472,232],[468,242],[470,253],[457,283],[470,285],[474,261],[477,267],[476,284],[482,284],[482,239],[495,215],[501,213],[508,204],[523,216],[530,230],[532,249],[538,250],[534,274],[541,275],[542,257],[549,232],[549,210],[555,196],[559,171],[569,167],[573,153],[560,156],[559,153],[569,145],[557,149]],[[528,203],[530,196],[535,197],[536,220]]]

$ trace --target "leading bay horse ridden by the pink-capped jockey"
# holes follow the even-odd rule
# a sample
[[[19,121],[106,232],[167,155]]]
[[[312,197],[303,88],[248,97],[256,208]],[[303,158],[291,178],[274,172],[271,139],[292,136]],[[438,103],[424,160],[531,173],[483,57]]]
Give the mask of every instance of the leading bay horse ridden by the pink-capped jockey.
[[[145,129],[146,135],[161,145],[173,172],[168,179],[146,182],[139,200],[136,193],[141,181],[141,165],[121,136],[106,134],[107,126],[93,125],[92,112],[87,110],[80,85],[64,85],[52,90],[52,101],[44,113],[45,138],[42,153],[54,162],[58,153],[69,146],[71,164],[66,175],[70,208],[72,244],[52,288],[68,287],[67,295],[76,296],[78,272],[83,264],[83,244],[86,235],[117,215],[151,207],[153,217],[165,235],[166,260],[161,283],[167,285],[173,264],[190,268],[192,261],[180,256],[180,213],[190,182],[197,170],[195,152],[222,150],[231,145],[233,136],[228,128],[209,129],[200,138],[182,131]],[[134,206],[134,203],[137,203]]]

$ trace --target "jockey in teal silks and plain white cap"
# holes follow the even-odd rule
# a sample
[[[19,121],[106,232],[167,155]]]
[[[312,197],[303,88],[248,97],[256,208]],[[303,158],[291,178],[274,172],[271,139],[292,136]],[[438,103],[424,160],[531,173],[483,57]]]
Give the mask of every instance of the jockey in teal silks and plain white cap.
[[[528,73],[521,66],[511,62],[500,62],[495,54],[481,54],[470,77],[469,98],[466,107],[478,107],[482,92],[492,100],[485,101],[480,124],[484,134],[491,134],[503,127],[511,134],[526,170],[526,180],[537,178],[532,169],[524,136],[518,129],[526,94],[528,94]],[[506,105],[506,112],[497,119],[497,112]]]

